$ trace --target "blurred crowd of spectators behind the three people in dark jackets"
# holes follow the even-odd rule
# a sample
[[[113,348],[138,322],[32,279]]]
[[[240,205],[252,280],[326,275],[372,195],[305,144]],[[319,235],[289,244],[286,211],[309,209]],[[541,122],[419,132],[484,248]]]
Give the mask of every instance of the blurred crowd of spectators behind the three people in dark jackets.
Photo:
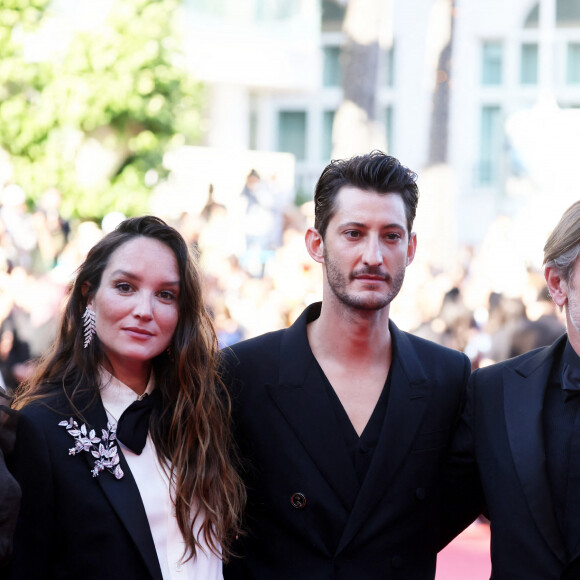
[[[263,185],[252,170],[236,207],[216,201],[210,185],[200,212],[159,216],[199,256],[222,346],[289,326],[321,299],[321,268],[304,245],[312,202],[278,203]],[[8,391],[54,339],[69,281],[86,252],[124,217],[69,221],[60,205],[55,188],[33,209],[18,185],[0,191],[0,371]],[[465,352],[473,368],[551,344],[565,330],[540,268],[522,265],[524,283],[508,294],[487,282],[484,253],[483,247],[460,248],[453,268],[438,268],[419,244],[391,309],[400,328]]]

